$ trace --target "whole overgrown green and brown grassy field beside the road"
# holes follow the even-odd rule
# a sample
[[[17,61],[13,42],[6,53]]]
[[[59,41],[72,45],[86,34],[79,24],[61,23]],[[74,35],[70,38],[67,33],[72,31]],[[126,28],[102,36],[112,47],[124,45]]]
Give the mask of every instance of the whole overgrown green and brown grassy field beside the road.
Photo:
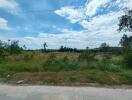
[[[25,52],[0,58],[0,81],[48,85],[132,84],[122,55],[105,53]]]

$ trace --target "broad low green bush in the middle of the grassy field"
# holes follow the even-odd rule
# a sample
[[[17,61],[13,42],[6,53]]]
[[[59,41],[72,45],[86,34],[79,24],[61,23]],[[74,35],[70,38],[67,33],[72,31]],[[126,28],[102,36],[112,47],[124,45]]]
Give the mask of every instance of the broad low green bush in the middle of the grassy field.
[[[67,57],[64,58],[53,58],[49,57],[43,63],[44,71],[74,71],[80,70],[83,67],[77,60],[69,60]]]

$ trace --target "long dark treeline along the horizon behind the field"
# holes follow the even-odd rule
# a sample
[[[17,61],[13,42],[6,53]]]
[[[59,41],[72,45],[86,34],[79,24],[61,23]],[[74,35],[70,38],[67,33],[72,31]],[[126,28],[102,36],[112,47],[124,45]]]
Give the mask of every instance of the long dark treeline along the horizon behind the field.
[[[46,45],[46,46],[45,46]],[[26,50],[26,46],[21,47],[18,40],[8,40],[7,42],[0,40],[0,55],[7,54],[20,54],[23,50],[26,51],[42,51],[42,52],[110,52],[110,53],[123,53],[132,50],[132,36],[123,35],[119,41],[121,47],[111,47],[107,43],[102,43],[98,48],[90,49],[77,49],[66,46],[60,46],[59,49],[47,49],[45,43],[43,49],[38,50]]]

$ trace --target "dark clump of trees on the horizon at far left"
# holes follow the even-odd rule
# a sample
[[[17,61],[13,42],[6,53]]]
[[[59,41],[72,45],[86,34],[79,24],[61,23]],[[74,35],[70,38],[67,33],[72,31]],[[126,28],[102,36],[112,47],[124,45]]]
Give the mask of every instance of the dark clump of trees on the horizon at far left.
[[[0,40],[0,56],[6,56],[9,54],[20,54],[23,48],[20,47],[18,40],[8,40],[4,42]]]

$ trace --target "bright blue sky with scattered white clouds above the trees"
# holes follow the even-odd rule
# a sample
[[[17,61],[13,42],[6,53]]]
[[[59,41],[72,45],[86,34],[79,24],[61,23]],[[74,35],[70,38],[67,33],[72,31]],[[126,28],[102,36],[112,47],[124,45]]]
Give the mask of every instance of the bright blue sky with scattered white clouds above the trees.
[[[0,0],[0,40],[28,48],[117,46],[118,18],[132,0]],[[130,34],[130,33],[127,33]]]

